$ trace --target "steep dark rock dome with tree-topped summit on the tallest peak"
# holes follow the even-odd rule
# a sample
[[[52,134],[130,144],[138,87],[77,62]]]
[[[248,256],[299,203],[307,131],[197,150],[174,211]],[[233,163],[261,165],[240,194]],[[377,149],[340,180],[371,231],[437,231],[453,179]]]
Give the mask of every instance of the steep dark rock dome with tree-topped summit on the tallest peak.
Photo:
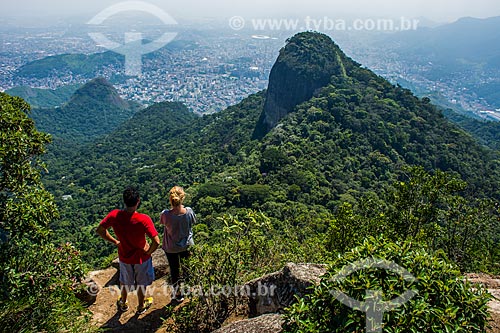
[[[296,105],[326,86],[332,75],[347,76],[353,65],[356,64],[326,35],[303,32],[290,38],[271,69],[254,138],[266,135]]]

